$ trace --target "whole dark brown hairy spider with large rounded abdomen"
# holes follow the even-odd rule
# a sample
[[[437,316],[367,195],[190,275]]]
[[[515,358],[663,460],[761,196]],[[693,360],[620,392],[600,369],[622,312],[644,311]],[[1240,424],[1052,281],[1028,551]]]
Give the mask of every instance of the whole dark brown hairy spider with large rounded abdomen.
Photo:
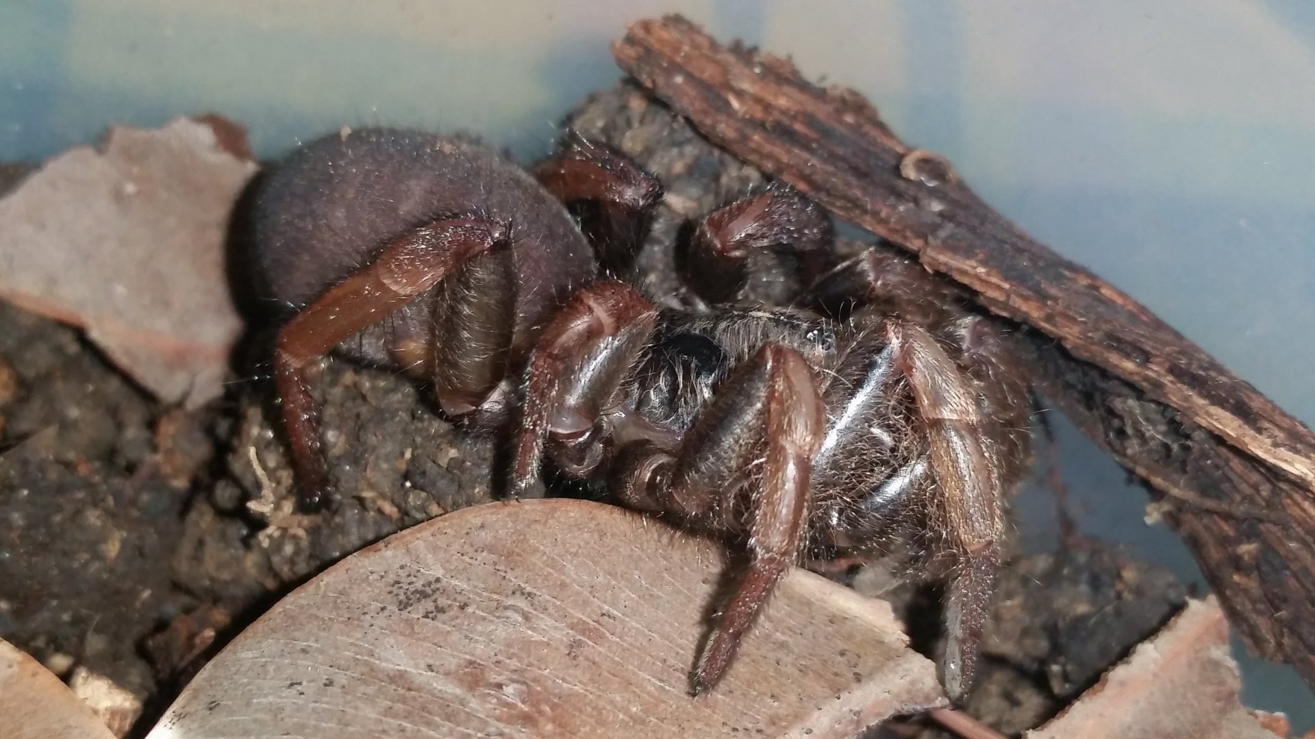
[[[1027,384],[998,329],[917,264],[836,255],[827,216],[781,185],[694,225],[681,274],[698,306],[660,309],[627,281],[660,199],[579,137],[529,172],[389,129],[275,167],[255,255],[271,297],[300,309],[275,376],[301,502],[327,493],[310,367],[335,350],[394,366],[452,419],[509,431],[513,496],[548,460],[747,550],[693,693],[790,565],[911,539],[947,580],[943,675],[961,697],[1030,450]],[[806,289],[747,300],[768,254]]]

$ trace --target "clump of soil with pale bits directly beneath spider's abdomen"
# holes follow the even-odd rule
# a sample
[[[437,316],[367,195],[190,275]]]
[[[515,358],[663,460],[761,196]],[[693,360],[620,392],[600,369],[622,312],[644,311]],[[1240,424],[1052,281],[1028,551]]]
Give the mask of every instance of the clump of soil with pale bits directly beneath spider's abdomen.
[[[493,500],[494,439],[442,419],[422,388],[343,362],[329,362],[316,385],[338,497],[325,513],[296,512],[268,388],[243,393],[218,476],[188,512],[174,559],[191,586],[239,601],[280,592],[401,529]]]

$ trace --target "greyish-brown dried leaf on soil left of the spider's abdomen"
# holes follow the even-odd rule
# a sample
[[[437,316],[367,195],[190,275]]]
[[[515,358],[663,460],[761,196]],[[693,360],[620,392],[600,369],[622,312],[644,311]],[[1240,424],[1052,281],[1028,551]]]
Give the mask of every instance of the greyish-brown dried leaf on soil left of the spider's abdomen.
[[[0,200],[0,297],[84,327],[167,402],[217,397],[241,331],[225,234],[256,170],[234,130],[114,128],[47,162]]]

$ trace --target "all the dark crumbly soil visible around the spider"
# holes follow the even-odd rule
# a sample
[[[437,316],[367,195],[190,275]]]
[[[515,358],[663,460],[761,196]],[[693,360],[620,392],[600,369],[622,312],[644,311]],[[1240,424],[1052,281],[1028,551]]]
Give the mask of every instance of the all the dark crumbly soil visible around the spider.
[[[668,196],[638,268],[655,298],[692,300],[672,270],[677,231],[760,175],[625,84],[571,125],[663,180]],[[777,295],[788,270],[778,275],[755,292]],[[246,355],[260,346],[254,335]],[[329,363],[317,384],[326,448],[334,488],[354,494],[299,515],[270,384],[259,362],[242,364],[221,401],[163,408],[75,330],[0,304],[0,638],[57,669],[108,676],[147,701],[145,721],[297,583],[500,489],[497,439],[454,429],[402,377]],[[836,577],[892,597],[915,643],[935,650],[940,621],[926,588],[886,589],[876,571]],[[1005,732],[1036,726],[1184,600],[1166,572],[1095,543],[1015,559],[969,710]]]

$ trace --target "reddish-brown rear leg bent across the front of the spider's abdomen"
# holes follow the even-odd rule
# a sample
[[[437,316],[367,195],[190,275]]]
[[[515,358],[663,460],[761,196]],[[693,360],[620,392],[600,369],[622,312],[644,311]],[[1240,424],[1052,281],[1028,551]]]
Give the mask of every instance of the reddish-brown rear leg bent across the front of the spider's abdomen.
[[[401,309],[458,264],[504,242],[506,234],[505,225],[477,218],[421,226],[389,243],[370,266],[330,288],[283,327],[274,368],[302,508],[322,505],[325,488],[320,409],[306,367]]]

